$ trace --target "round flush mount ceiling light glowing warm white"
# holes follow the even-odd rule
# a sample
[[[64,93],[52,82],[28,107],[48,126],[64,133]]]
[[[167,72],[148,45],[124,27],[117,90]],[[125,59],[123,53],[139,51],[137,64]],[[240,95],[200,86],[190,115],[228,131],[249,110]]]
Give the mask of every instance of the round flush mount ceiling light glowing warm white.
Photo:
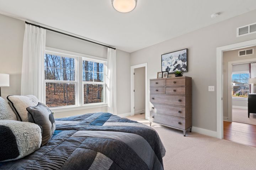
[[[132,10],[137,5],[137,0],[112,0],[112,6],[115,10],[122,13],[127,13]]]

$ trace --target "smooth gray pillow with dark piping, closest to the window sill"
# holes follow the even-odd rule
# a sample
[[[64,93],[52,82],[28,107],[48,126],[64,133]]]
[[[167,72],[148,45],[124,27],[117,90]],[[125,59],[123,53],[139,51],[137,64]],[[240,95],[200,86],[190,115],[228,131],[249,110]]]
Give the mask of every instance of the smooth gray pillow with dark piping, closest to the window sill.
[[[50,140],[56,128],[53,113],[43,103],[38,103],[34,107],[28,107],[27,111],[28,121],[42,127],[42,146],[44,146]]]

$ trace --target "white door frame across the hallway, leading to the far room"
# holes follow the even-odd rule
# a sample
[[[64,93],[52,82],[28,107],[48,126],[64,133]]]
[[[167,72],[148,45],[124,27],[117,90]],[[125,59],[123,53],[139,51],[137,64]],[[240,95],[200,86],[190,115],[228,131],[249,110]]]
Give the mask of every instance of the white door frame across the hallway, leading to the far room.
[[[237,61],[230,61],[228,62],[228,91],[231,92],[232,90],[232,65],[233,64],[242,64],[242,63],[251,63],[251,62],[255,62],[256,59],[255,58],[251,58],[251,59],[246,59],[246,60],[237,60]],[[246,100],[246,99],[242,99],[242,100]],[[233,106],[233,98],[232,95],[229,94],[228,96],[228,121],[232,122],[232,106]]]

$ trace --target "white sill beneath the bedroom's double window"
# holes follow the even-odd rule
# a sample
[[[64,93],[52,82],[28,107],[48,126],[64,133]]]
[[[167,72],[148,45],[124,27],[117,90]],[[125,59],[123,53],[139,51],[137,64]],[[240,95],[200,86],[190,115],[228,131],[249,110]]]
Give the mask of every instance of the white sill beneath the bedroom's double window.
[[[52,112],[66,112],[66,111],[76,111],[82,109],[90,109],[90,108],[97,108],[97,107],[107,107],[107,103],[97,103],[97,104],[86,104],[83,106],[68,106],[68,107],[58,107],[58,108],[50,108]]]

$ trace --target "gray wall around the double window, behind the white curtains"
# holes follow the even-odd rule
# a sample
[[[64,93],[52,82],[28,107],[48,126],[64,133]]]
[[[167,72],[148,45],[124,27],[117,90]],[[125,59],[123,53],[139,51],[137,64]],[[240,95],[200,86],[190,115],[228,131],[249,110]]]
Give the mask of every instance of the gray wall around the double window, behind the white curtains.
[[[10,87],[2,87],[2,97],[20,95],[22,48],[25,22],[0,15],[0,73],[10,74]],[[107,58],[107,48],[47,31],[46,46]],[[117,113],[130,112],[130,53],[117,50]],[[124,90],[124,89],[128,90]],[[55,117],[107,111],[107,107],[55,113]]]

